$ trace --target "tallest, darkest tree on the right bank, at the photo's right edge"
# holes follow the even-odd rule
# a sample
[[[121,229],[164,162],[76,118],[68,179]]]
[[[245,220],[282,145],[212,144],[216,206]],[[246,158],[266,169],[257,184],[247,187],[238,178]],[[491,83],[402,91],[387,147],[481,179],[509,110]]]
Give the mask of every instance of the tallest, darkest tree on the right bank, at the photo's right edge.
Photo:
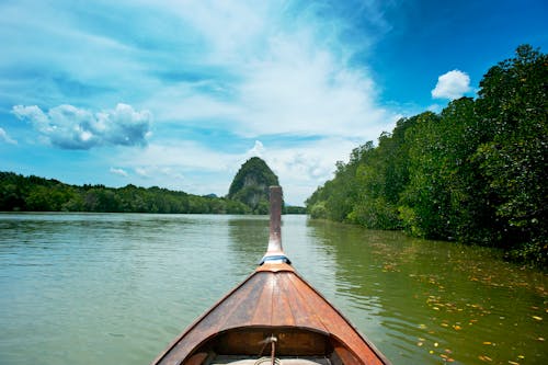
[[[548,57],[529,45],[481,81],[478,113],[492,135],[476,160],[505,231],[502,244],[548,261]],[[536,259],[533,259],[536,258]]]

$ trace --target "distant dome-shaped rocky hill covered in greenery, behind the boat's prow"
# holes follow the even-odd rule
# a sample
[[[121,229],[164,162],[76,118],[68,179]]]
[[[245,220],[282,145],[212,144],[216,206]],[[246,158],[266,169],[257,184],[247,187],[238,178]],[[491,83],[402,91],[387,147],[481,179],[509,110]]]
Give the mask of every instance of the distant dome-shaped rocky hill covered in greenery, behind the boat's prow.
[[[246,204],[254,214],[269,214],[269,186],[278,184],[266,162],[252,157],[240,167],[227,197]]]

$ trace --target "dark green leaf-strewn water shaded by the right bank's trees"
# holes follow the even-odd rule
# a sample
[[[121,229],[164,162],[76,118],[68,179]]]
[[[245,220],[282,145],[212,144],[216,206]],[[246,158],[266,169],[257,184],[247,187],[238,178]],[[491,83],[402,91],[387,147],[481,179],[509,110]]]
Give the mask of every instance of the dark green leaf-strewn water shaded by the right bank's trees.
[[[333,252],[336,301],[399,363],[541,364],[547,275],[496,250],[309,221]]]

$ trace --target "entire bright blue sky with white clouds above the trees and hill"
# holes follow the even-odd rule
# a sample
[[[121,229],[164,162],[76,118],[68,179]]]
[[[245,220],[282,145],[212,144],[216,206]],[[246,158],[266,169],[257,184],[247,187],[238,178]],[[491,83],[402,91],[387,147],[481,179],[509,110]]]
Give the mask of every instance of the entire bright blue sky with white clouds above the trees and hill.
[[[0,1],[0,170],[227,194],[263,158],[289,204],[398,118],[475,96],[548,2]]]

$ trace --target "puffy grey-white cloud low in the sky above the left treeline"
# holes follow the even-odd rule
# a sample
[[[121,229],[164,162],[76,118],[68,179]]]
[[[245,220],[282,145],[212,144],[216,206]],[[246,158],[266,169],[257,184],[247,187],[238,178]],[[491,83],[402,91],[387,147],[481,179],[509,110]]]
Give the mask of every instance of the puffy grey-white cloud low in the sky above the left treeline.
[[[59,105],[47,113],[36,105],[15,105],[12,113],[64,149],[90,149],[105,145],[146,146],[152,115],[130,105],[92,113],[72,105]]]

